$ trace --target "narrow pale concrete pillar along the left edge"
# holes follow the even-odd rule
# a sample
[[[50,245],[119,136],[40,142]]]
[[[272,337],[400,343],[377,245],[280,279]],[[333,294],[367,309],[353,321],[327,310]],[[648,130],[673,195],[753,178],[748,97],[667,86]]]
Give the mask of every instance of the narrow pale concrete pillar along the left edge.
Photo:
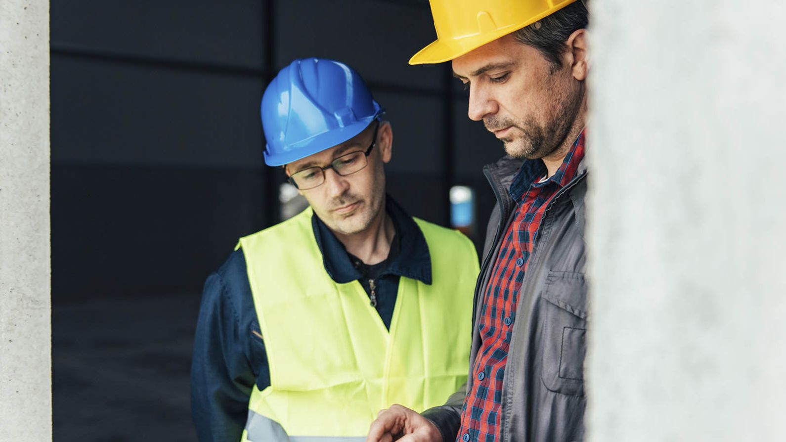
[[[49,2],[0,2],[0,441],[52,440]]]

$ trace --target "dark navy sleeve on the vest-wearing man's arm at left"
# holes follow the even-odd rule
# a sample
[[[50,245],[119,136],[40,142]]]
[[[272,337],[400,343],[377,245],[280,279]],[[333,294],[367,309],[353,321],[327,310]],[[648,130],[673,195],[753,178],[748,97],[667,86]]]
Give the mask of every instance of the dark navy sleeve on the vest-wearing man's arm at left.
[[[191,365],[191,412],[201,442],[237,442],[255,375],[237,311],[219,273],[204,285]]]

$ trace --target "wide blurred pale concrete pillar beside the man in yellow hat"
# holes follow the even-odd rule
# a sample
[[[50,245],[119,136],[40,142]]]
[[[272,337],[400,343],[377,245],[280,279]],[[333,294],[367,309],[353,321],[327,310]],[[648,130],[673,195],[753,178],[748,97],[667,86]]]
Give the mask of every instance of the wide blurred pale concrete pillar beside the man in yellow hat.
[[[589,440],[786,440],[786,6],[589,4]]]

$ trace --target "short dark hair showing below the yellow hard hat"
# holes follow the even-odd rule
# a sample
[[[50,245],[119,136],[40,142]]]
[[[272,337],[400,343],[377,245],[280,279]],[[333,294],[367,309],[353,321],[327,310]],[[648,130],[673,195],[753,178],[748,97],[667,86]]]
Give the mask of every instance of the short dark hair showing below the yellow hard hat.
[[[562,68],[565,42],[571,34],[587,27],[587,9],[584,2],[573,2],[548,17],[542,18],[513,32],[520,43],[539,50],[551,64],[551,72]]]

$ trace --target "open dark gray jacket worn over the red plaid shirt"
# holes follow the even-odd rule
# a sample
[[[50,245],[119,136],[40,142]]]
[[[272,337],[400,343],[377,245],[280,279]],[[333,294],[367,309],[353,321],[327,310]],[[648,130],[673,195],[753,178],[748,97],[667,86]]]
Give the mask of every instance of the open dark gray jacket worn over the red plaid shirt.
[[[479,315],[483,294],[516,203],[508,193],[521,160],[503,157],[483,168],[497,196],[475,289],[474,327],[469,366],[480,348]],[[556,193],[545,210],[516,306],[516,322],[502,381],[500,442],[572,442],[584,438],[583,364],[586,350],[584,278],[584,197],[586,164]],[[468,383],[447,403],[424,411],[445,442],[458,435]]]

